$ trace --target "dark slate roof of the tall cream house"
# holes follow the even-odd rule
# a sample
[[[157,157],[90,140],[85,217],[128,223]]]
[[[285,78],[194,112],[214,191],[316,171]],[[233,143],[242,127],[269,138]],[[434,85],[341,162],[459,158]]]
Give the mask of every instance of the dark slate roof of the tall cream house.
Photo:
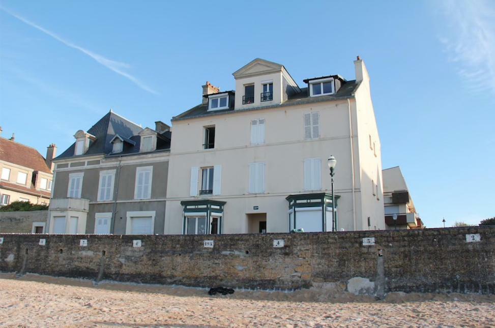
[[[330,96],[320,96],[320,97],[309,97],[308,88],[305,87],[305,88],[301,88],[300,93],[289,96],[289,98],[282,104],[237,109],[235,111],[240,112],[240,111],[267,109],[267,108],[278,108],[285,106],[295,106],[295,105],[303,105],[303,104],[317,103],[323,101],[352,98],[354,97],[354,93],[356,92],[359,84],[360,83],[356,82],[356,80],[347,81],[342,84],[342,86],[340,87],[340,89],[337,91],[336,94]],[[231,112],[234,112],[234,108],[208,111],[208,104],[199,104],[183,112],[182,114],[172,117],[172,121],[187,120],[189,118],[196,118],[203,116],[221,115]]]

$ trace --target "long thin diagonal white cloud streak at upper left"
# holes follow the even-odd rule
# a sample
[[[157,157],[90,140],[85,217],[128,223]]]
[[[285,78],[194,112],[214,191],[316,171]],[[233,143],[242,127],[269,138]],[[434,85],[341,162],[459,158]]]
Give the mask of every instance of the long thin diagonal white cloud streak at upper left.
[[[12,12],[12,11],[2,7],[2,6],[0,6],[0,10],[3,10],[7,14],[11,15],[12,17],[17,18],[18,20],[20,20],[21,22],[23,22],[25,24],[30,25],[30,26],[38,29],[38,31],[43,32],[44,34],[46,34],[46,35],[52,37],[53,39],[65,44],[66,46],[73,48],[73,49],[76,49],[76,50],[79,50],[80,52],[84,53],[85,55],[90,56],[99,64],[101,64],[101,65],[105,66],[106,68],[112,70],[113,72],[120,74],[120,75],[126,77],[127,79],[131,80],[132,82],[134,82],[134,84],[139,86],[142,90],[145,90],[145,91],[150,92],[150,93],[155,94],[155,95],[157,94],[157,92],[154,91],[152,88],[150,88],[148,85],[144,84],[143,82],[141,82],[140,80],[138,80],[137,78],[132,76],[131,74],[125,72],[125,69],[130,68],[129,64],[113,61],[112,59],[108,59],[108,58],[106,58],[106,57],[104,57],[98,53],[95,53],[91,50],[88,50],[88,49],[85,49],[81,46],[78,46],[78,45],[74,44],[73,42],[68,41],[66,39],[63,39],[62,37],[56,35],[55,33],[48,31],[48,29],[46,29],[46,28],[44,28],[44,27],[42,27],[42,26],[40,26],[40,25],[30,21],[30,20],[27,20],[26,18],[14,13],[14,12]]]

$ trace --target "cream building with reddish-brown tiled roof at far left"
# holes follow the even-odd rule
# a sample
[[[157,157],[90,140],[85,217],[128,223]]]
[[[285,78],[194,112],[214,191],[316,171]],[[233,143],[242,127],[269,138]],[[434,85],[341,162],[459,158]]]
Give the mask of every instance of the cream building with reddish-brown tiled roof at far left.
[[[48,205],[55,154],[53,143],[44,158],[35,148],[16,142],[13,134],[9,139],[0,137],[0,205],[19,200]]]

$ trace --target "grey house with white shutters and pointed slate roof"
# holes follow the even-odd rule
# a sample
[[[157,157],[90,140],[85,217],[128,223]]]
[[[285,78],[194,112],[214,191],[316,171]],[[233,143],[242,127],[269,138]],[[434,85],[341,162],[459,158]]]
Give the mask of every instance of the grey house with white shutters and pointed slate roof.
[[[50,233],[163,233],[170,127],[110,110],[56,157]]]

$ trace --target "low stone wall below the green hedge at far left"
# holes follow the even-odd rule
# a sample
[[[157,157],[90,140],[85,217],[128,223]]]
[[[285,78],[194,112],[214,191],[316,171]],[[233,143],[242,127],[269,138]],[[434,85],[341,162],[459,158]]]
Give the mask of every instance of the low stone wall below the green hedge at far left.
[[[33,222],[45,222],[48,211],[0,212],[0,233],[31,233]]]

